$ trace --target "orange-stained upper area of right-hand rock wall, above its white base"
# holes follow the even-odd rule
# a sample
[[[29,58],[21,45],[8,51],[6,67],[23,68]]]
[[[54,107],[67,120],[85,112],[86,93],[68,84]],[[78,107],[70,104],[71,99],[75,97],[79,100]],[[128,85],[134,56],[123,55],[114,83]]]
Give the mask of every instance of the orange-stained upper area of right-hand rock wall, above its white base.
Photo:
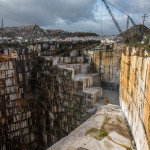
[[[127,51],[126,54],[122,53],[120,96],[133,120],[137,119],[138,112],[150,143],[150,64],[147,67],[147,58],[142,58],[140,52],[134,56],[128,54]]]

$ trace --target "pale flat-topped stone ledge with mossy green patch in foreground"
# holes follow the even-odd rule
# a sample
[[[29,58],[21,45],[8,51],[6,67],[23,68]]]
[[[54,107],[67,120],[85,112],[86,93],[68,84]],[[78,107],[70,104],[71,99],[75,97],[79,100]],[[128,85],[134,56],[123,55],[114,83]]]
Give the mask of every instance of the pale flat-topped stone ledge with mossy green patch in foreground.
[[[132,143],[121,108],[106,105],[48,150],[132,150]]]

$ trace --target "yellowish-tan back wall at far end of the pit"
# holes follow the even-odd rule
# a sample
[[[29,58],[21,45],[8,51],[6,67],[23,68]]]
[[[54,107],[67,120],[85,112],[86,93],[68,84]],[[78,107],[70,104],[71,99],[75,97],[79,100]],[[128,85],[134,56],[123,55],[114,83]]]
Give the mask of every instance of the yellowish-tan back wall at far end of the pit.
[[[120,50],[94,51],[94,68],[95,71],[100,72],[101,86],[103,89],[119,91],[120,62]]]

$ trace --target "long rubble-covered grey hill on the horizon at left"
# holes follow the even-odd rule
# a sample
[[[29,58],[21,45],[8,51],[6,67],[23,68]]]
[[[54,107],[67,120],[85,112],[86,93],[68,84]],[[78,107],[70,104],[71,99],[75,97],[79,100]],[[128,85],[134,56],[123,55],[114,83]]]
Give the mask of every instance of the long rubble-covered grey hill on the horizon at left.
[[[67,32],[63,30],[44,30],[38,25],[6,27],[4,28],[4,36],[6,37],[24,37],[24,38],[38,38],[38,37],[53,37],[60,38],[73,36],[98,36],[95,33],[89,32]]]

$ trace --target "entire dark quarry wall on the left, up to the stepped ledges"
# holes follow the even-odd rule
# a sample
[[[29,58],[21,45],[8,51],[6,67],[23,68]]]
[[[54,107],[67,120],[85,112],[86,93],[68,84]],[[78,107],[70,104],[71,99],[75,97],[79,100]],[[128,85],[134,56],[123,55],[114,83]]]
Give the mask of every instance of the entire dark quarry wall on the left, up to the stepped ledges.
[[[71,81],[71,70],[54,67],[54,62],[39,57],[61,55],[96,43],[30,44],[15,48],[17,59],[0,59],[0,150],[37,149],[37,145],[43,149],[86,119],[91,104],[86,104],[86,94],[81,92],[83,82]],[[0,49],[5,56],[11,52],[7,46]],[[66,58],[60,59],[65,63]],[[74,57],[71,62],[78,59]]]

